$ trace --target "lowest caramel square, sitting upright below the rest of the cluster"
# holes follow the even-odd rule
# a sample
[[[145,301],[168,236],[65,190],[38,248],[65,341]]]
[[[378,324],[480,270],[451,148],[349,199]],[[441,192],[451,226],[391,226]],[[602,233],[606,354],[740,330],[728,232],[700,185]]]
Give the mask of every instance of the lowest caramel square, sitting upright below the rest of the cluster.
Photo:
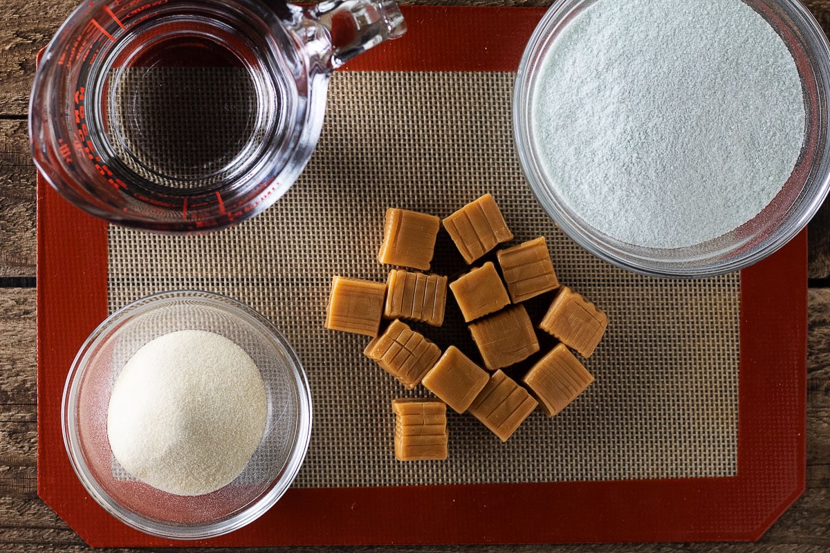
[[[440,400],[392,401],[395,457],[399,461],[447,458],[447,405]]]

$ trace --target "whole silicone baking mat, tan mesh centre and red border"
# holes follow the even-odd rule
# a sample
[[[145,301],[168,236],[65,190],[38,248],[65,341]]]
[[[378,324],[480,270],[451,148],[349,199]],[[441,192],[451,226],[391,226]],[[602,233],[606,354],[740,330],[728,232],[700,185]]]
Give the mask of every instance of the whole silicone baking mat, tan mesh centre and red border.
[[[39,490],[81,536],[180,543],[131,531],[85,497],[59,421],[64,367],[86,334],[168,289],[226,293],[271,318],[298,351],[315,405],[294,488],[260,521],[205,545],[752,539],[798,496],[803,235],[741,274],[692,281],[627,273],[574,245],[535,203],[510,130],[515,67],[543,12],[406,9],[405,39],[334,75],[300,181],[233,229],[171,237],[107,227],[39,187]],[[385,279],[376,255],[387,206],[447,216],[484,192],[516,240],[544,235],[560,281],[608,313],[586,361],[597,380],[554,419],[536,412],[506,444],[451,412],[447,461],[399,463],[389,402],[426,390],[404,390],[367,360],[368,338],[323,329],[330,279]],[[433,269],[462,267],[442,235]],[[475,351],[452,308],[427,333]]]

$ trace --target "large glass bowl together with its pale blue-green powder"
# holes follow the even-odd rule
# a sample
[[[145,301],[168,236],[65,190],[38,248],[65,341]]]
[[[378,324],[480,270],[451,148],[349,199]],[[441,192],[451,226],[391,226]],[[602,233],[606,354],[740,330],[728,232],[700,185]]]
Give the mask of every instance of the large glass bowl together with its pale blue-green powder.
[[[796,0],[560,0],[517,75],[522,168],[605,260],[658,276],[740,269],[827,195],[828,60]]]

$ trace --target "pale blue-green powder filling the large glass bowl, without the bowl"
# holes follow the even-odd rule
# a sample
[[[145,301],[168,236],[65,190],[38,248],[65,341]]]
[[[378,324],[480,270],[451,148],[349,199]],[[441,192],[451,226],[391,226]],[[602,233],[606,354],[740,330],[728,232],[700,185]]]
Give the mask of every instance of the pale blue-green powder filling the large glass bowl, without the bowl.
[[[741,0],[598,0],[555,38],[531,94],[550,182],[633,245],[695,245],[751,220],[803,143],[793,56]]]

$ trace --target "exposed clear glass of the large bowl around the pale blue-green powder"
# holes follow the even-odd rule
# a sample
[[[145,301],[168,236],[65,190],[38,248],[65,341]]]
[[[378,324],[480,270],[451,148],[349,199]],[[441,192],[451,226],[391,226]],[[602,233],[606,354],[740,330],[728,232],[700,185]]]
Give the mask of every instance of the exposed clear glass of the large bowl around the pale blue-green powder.
[[[544,211],[585,250],[623,269],[659,277],[702,278],[729,273],[754,264],[785,245],[807,225],[830,187],[830,46],[810,12],[797,0],[745,0],[781,36],[793,55],[801,80],[806,112],[804,138],[789,180],[763,211],[735,230],[700,244],[664,249],[628,244],[584,221],[545,174],[530,132],[533,91],[545,53],[574,17],[597,1],[613,2],[559,0],[551,7],[530,37],[516,76],[516,149],[525,177]]]

